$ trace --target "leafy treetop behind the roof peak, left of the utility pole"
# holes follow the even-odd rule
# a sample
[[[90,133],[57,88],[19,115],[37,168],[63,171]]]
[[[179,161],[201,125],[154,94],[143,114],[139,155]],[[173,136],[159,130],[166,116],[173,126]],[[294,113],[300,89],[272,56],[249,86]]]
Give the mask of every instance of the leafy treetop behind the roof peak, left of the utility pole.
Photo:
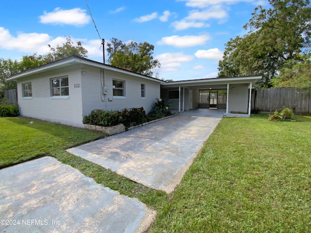
[[[87,57],[86,55],[87,50],[83,48],[82,42],[78,41],[77,45],[74,45],[70,36],[66,38],[66,42],[63,43],[63,46],[57,45],[56,48],[53,48],[51,45],[48,46],[51,52],[44,55],[44,60],[46,63],[57,61],[72,55],[76,55],[83,58]]]

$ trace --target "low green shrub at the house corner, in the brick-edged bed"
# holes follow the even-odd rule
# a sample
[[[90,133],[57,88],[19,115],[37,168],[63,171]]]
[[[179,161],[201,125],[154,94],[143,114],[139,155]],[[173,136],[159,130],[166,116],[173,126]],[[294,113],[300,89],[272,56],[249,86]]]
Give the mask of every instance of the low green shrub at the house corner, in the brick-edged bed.
[[[120,122],[120,113],[118,111],[105,111],[102,109],[92,110],[91,113],[83,117],[84,124],[113,126]]]

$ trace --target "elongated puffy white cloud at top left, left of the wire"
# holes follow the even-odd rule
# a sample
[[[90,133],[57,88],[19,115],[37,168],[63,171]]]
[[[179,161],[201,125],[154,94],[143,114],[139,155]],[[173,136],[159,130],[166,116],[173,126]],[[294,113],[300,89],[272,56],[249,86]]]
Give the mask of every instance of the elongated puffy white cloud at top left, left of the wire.
[[[40,16],[40,23],[83,26],[88,24],[90,19],[91,17],[86,15],[86,10],[82,10],[81,8],[62,10],[57,7],[53,12],[44,12],[43,16]]]

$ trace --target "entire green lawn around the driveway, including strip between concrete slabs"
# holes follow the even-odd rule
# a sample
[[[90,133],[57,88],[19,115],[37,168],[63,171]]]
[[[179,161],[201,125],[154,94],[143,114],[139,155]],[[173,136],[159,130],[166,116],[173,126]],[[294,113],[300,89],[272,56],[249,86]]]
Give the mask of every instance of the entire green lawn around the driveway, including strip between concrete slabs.
[[[0,167],[54,156],[155,209],[152,233],[311,232],[311,116],[295,117],[223,118],[170,195],[65,151],[103,134],[23,117],[0,117]]]

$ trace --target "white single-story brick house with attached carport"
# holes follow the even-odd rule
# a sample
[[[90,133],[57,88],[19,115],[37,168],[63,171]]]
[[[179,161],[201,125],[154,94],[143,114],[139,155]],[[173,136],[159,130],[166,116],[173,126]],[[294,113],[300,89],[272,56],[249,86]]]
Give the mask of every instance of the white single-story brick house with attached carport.
[[[224,108],[227,114],[249,116],[249,93],[252,84],[260,78],[166,83],[130,70],[70,56],[21,72],[8,80],[17,81],[21,116],[83,127],[83,117],[94,109],[143,107],[148,113],[156,98],[171,100],[177,111]]]

